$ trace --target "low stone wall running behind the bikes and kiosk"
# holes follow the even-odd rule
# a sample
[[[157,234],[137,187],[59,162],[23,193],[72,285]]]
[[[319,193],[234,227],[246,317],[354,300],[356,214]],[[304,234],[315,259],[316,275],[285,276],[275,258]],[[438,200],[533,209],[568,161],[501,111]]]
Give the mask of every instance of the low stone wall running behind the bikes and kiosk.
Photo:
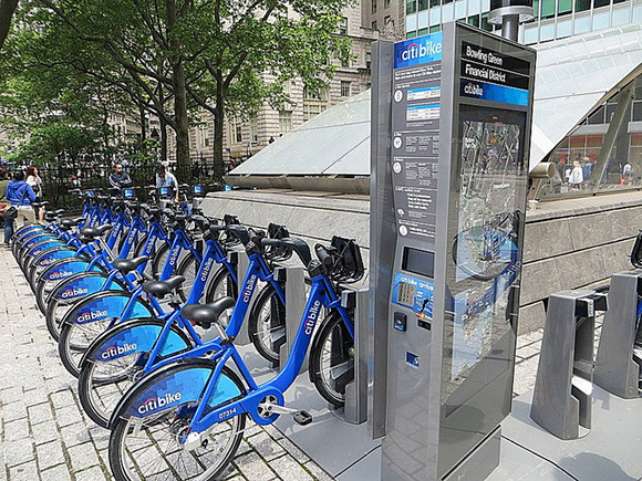
[[[242,223],[266,228],[284,224],[311,245],[333,234],[356,239],[369,259],[367,196],[283,190],[210,194],[206,215],[238,216]],[[630,266],[629,253],[642,229],[642,194],[627,192],[542,202],[527,212],[519,334],[543,326],[542,301],[565,289],[609,282]]]

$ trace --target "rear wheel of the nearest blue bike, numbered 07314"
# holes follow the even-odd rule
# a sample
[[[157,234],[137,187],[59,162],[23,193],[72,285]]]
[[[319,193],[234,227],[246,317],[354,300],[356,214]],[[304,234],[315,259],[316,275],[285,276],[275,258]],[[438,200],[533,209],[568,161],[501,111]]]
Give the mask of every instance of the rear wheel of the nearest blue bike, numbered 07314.
[[[214,368],[215,365],[209,360],[190,359],[184,364],[172,365],[168,369],[161,369],[157,375],[136,385],[134,395],[127,396],[130,402],[125,402],[124,409],[118,409],[118,412],[127,412],[127,408],[138,401],[139,396],[162,379],[178,376],[182,372],[189,369],[214,372]],[[231,369],[226,366],[222,374],[236,385],[241,396],[246,394],[245,386]],[[206,447],[186,451],[176,441],[178,436],[175,432],[183,432],[180,429],[189,425],[194,410],[180,409],[188,405],[195,405],[195,402],[182,402],[143,418],[120,416],[110,436],[110,467],[116,481],[153,479],[152,474],[158,471],[163,471],[161,475],[170,474],[172,479],[193,479],[199,474],[200,479],[219,479],[239,447],[247,415],[244,412],[220,422],[210,430],[209,443]],[[135,430],[132,429],[133,419],[141,420],[139,424],[136,422]],[[221,440],[221,437],[225,439]],[[164,442],[158,443],[158,439],[163,439]],[[211,449],[211,446],[215,449]],[[165,450],[161,452],[164,448]],[[135,453],[131,454],[133,451]],[[215,456],[217,459],[214,459]],[[194,462],[195,458],[198,462]],[[158,460],[157,463],[154,462],[155,459]],[[143,468],[137,466],[136,460],[145,460],[145,466],[152,464],[153,472],[143,472],[145,466]],[[194,471],[195,469],[199,471]]]

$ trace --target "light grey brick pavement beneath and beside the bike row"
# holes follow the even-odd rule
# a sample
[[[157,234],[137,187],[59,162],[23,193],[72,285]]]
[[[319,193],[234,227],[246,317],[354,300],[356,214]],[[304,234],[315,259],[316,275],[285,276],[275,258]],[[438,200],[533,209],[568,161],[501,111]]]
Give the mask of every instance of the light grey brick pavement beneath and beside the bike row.
[[[108,431],[82,412],[76,380],[13,255],[0,248],[0,481],[111,479]],[[542,330],[518,338],[515,395],[535,385]],[[228,479],[331,480],[273,426],[249,422]]]

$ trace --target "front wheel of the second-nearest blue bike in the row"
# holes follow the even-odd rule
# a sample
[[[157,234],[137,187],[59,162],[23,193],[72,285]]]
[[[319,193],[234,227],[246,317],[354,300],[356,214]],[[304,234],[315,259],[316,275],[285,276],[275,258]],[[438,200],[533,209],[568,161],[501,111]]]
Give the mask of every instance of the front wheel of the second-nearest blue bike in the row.
[[[286,306],[272,284],[263,285],[252,302],[248,332],[258,353],[270,363],[278,363],[280,348],[287,341]]]

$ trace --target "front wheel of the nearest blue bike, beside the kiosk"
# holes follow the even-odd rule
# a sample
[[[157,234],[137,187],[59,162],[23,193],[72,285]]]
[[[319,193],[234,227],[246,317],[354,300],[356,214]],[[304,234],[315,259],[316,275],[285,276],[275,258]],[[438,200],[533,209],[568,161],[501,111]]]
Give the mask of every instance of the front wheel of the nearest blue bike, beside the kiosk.
[[[310,380],[335,407],[345,404],[345,386],[354,379],[354,341],[336,311],[325,316],[310,351]]]

